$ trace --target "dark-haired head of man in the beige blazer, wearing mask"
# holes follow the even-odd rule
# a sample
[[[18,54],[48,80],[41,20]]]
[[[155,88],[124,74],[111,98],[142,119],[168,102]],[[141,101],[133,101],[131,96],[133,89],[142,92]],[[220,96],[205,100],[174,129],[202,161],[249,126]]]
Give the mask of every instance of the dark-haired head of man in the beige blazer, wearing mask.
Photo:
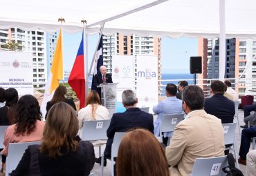
[[[182,92],[182,108],[188,114],[193,110],[201,110],[204,106],[203,90],[199,86],[186,86]]]

